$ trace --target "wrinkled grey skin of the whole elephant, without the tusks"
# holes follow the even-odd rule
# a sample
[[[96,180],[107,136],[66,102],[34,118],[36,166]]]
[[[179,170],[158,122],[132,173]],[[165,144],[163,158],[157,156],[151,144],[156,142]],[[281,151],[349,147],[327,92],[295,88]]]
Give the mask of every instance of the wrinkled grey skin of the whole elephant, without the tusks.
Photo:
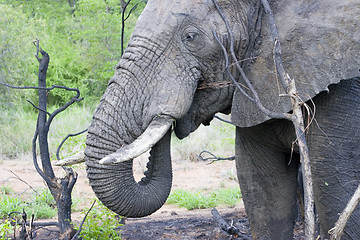
[[[279,98],[283,90],[274,74],[273,44],[260,1],[218,3],[234,33],[238,59],[247,59],[241,64],[263,104],[289,112],[289,99]],[[271,7],[285,68],[296,79],[300,97],[316,105],[308,141],[316,209],[326,233],[360,179],[360,5],[358,0],[299,0],[276,1]],[[152,148],[149,171],[139,183],[132,160],[113,165],[99,160],[134,142],[157,116],[174,119],[175,134],[184,138],[215,113],[231,110],[252,236],[291,239],[299,167],[296,148],[291,154],[292,125],[269,119],[232,86],[214,87],[229,79],[212,30],[228,47],[225,24],[211,0],[149,0],[89,128],[90,184],[120,215],[153,213],[171,188],[170,131]],[[343,239],[360,239],[359,223],[358,207]]]

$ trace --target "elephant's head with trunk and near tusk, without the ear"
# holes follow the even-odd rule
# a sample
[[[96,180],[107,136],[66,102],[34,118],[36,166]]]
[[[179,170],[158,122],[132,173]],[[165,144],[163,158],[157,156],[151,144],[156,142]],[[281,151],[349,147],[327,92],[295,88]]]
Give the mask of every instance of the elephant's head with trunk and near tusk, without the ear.
[[[244,11],[250,7],[236,5]],[[234,32],[247,36],[245,15],[236,13],[228,1],[221,6],[239,23],[233,24]],[[208,124],[215,113],[229,112],[233,87],[213,87],[229,82],[221,47],[212,34],[214,30],[226,41],[218,14],[212,1],[150,0],[139,17],[86,141],[90,185],[114,212],[146,216],[166,201],[173,122],[176,135],[183,138],[201,123]],[[248,45],[248,37],[236,43],[239,58],[245,57]],[[132,159],[151,147],[148,171],[137,183]],[[120,163],[101,164],[113,160]]]

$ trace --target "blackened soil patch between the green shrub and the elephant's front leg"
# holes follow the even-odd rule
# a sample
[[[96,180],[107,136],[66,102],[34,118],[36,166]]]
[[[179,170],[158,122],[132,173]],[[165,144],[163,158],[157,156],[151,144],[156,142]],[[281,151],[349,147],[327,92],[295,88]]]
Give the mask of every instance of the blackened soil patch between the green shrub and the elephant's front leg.
[[[219,212],[222,214],[221,210]],[[224,212],[222,217],[227,222],[233,221],[234,226],[242,234],[251,236],[249,223],[243,210],[233,212],[233,209],[226,209]],[[121,228],[123,239],[242,239],[222,231],[217,221],[212,218],[210,209],[179,215],[173,211],[162,219],[146,217],[127,219],[125,222]]]

